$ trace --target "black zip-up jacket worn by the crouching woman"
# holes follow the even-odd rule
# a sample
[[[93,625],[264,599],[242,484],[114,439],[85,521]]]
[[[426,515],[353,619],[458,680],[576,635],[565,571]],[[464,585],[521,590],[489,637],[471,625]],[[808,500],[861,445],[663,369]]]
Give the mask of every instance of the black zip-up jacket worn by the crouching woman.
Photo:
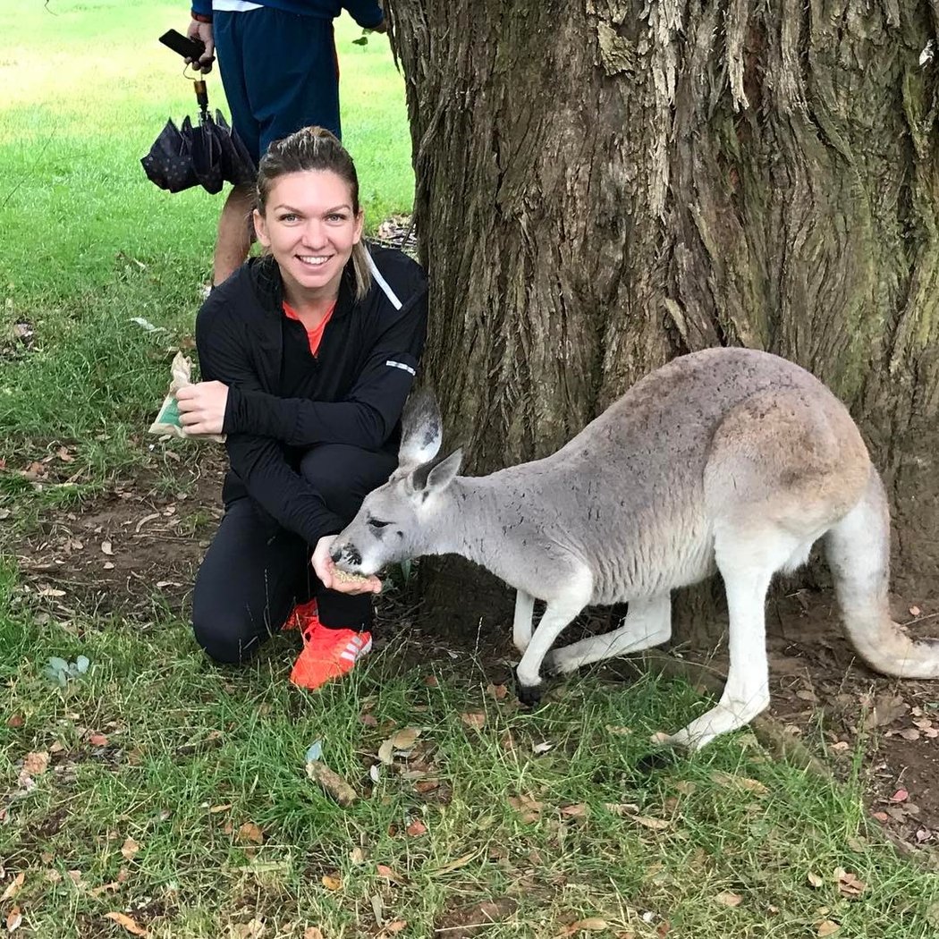
[[[427,326],[427,283],[407,255],[369,247],[372,287],[355,299],[352,264],[326,324],[306,396],[285,397],[283,285],[256,258],[211,292],[195,322],[202,377],[228,386],[223,501],[251,496],[307,544],[343,528],[298,471],[317,443],[394,452]],[[383,282],[383,283],[382,283]]]

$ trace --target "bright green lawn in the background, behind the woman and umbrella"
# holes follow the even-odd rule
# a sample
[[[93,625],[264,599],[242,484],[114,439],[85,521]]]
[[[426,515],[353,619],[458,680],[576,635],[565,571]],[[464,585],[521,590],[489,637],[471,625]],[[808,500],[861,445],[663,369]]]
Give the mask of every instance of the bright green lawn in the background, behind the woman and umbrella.
[[[140,454],[129,438],[168,380],[163,353],[192,332],[223,194],[163,192],[139,163],[167,117],[197,113],[181,59],[157,41],[187,24],[186,4],[0,0],[8,458],[75,441],[96,466],[132,463]],[[345,143],[374,227],[411,207],[404,84],[387,38],[357,46],[362,30],[345,15],[336,25]],[[217,70],[208,87],[225,110]],[[134,316],[166,332],[146,333]],[[17,324],[31,332],[29,355],[19,354]]]

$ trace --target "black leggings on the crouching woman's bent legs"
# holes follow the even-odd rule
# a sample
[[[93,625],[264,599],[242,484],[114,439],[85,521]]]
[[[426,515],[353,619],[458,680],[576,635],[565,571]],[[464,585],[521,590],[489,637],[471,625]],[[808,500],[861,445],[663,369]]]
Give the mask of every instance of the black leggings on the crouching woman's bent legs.
[[[393,454],[330,443],[305,454],[300,472],[331,511],[349,522],[396,465]],[[208,655],[217,662],[244,661],[284,625],[296,604],[313,596],[324,625],[371,626],[372,594],[326,590],[310,563],[312,549],[250,498],[225,506],[192,590],[192,629]]]

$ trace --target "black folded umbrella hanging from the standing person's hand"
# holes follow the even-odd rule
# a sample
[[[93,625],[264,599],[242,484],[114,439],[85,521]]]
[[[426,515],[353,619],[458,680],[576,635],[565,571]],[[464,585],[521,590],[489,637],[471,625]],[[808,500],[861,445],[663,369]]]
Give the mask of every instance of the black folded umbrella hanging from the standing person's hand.
[[[192,83],[199,103],[199,124],[185,117],[177,127],[172,119],[160,131],[141,159],[146,177],[161,189],[181,192],[202,186],[207,192],[221,192],[222,184],[254,182],[257,167],[239,135],[222,112],[208,112],[208,92],[201,79]]]

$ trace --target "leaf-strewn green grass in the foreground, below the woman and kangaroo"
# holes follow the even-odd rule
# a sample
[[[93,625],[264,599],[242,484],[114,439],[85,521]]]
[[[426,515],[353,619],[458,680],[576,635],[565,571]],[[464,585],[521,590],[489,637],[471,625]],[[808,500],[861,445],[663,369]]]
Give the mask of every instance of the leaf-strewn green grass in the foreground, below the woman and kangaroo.
[[[4,577],[4,719],[22,724],[0,730],[0,856],[7,883],[26,871],[24,935],[117,936],[114,911],[173,939],[244,934],[226,929],[252,919],[265,935],[377,934],[374,897],[412,936],[482,901],[511,904],[494,937],[584,919],[642,939],[812,936],[826,919],[842,936],[935,935],[936,875],[867,831],[858,782],[772,762],[747,733],[639,768],[653,731],[700,713],[687,685],[587,676],[526,713],[472,660],[408,665],[426,654],[404,638],[308,695],[285,682],[286,639],[246,669],[214,669],[184,623],[65,631],[38,624],[36,597]],[[91,667],[57,688],[42,675],[53,654]],[[481,729],[463,717],[476,714]],[[416,747],[373,785],[378,748],[405,727],[421,729]],[[316,740],[357,789],[350,808],[306,776]],[[26,792],[29,753],[51,762]],[[262,843],[239,834],[246,824]],[[865,885],[856,899],[839,869]]]

